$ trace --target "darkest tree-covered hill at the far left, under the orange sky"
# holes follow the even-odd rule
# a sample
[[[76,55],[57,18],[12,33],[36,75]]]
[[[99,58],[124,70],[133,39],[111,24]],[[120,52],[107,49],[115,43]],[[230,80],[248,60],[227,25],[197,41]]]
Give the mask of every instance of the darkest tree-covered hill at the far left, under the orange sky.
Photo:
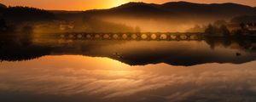
[[[16,30],[26,31],[30,23],[55,20],[55,14],[40,8],[7,7],[0,3],[0,34],[13,35]]]

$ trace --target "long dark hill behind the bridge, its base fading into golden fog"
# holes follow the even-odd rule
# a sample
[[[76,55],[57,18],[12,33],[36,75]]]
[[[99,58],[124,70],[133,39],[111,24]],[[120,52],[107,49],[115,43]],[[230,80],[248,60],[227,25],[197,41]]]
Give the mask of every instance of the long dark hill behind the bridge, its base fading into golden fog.
[[[115,8],[84,11],[85,16],[139,26],[142,31],[187,31],[195,25],[206,26],[216,20],[229,21],[253,14],[256,8],[236,3],[188,2],[125,3]]]

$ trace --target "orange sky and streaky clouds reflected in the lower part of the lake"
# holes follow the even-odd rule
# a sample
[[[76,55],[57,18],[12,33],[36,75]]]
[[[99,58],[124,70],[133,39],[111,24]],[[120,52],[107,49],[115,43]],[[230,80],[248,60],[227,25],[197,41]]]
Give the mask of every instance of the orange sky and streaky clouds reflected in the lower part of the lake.
[[[253,102],[255,63],[130,66],[113,59],[78,55],[3,61],[0,100]]]

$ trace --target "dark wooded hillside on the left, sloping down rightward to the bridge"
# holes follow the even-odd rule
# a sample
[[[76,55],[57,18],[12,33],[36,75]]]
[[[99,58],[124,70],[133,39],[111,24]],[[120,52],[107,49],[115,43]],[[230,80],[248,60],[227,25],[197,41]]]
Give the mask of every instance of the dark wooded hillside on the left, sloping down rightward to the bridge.
[[[65,31],[140,31],[139,27],[125,26],[89,17],[88,14],[55,13],[40,8],[0,6],[0,34],[13,35],[27,30],[55,33]],[[36,27],[35,27],[36,26]],[[41,26],[41,27],[38,27]],[[27,28],[32,29],[27,29]]]

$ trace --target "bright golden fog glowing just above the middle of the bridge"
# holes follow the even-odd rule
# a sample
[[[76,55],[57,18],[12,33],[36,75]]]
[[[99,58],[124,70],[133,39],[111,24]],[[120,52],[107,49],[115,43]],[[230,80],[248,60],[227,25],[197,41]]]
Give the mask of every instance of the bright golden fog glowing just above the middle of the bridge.
[[[193,19],[145,19],[108,17],[102,18],[114,23],[122,23],[127,26],[138,26],[143,32],[187,32],[194,26],[207,26],[214,20],[193,20]],[[201,30],[203,32],[203,30]]]

